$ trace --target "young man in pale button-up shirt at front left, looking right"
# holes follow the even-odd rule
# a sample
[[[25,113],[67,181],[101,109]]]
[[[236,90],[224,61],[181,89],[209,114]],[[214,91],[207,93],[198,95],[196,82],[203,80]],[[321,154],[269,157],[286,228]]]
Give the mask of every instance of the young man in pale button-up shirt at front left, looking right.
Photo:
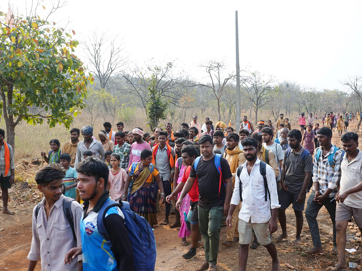
[[[81,270],[82,255],[69,266],[64,266],[64,256],[81,245],[80,218],[82,207],[76,201],[71,202],[74,233],[63,210],[67,199],[63,194],[63,178],[66,170],[59,164],[50,164],[37,171],[35,181],[44,198],[33,210],[33,238],[28,254],[28,271],[33,271],[41,260],[42,270]]]

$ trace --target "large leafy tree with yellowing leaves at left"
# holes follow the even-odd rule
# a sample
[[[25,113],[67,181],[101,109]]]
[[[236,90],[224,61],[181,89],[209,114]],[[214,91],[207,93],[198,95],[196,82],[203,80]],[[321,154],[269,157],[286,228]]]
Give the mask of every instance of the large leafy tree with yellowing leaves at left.
[[[57,8],[59,3],[49,15]],[[28,16],[14,16],[11,23],[5,17],[0,11],[0,116],[7,142],[14,147],[21,120],[35,125],[46,119],[50,128],[57,123],[69,128],[85,106],[87,83],[94,78],[85,75],[82,61],[73,54],[78,42],[54,27],[55,22],[37,16],[36,9]]]

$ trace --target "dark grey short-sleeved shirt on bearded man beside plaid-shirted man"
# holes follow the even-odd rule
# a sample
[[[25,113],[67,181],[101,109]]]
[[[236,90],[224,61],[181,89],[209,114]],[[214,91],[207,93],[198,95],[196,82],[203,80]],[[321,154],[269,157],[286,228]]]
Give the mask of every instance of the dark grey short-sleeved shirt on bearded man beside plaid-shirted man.
[[[303,162],[303,151],[303,147],[298,153],[294,153],[294,151],[291,150],[288,157],[283,159],[283,165],[285,165],[285,183],[287,184],[289,192],[294,194],[300,193],[306,172],[313,171],[312,155],[308,154]]]

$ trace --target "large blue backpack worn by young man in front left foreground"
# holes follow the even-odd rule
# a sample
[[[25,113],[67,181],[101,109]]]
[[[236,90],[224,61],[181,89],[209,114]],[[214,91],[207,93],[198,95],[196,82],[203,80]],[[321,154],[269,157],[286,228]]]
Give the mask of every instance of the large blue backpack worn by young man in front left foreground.
[[[107,200],[98,212],[97,227],[104,240],[112,249],[109,234],[104,226],[104,217],[109,208],[118,206],[125,216],[125,225],[132,244],[135,271],[154,271],[156,263],[156,242],[152,228],[146,219],[131,211],[130,203]],[[117,229],[114,229],[117,230]]]

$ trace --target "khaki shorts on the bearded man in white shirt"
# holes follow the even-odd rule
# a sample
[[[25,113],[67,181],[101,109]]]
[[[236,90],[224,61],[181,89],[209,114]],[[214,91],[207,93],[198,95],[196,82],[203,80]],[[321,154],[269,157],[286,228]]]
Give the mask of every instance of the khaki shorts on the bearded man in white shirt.
[[[269,221],[265,223],[251,223],[251,220],[245,222],[243,219],[239,218],[239,225],[237,226],[237,230],[239,231],[239,244],[250,244],[255,235],[260,245],[269,245],[271,239],[268,225]]]

